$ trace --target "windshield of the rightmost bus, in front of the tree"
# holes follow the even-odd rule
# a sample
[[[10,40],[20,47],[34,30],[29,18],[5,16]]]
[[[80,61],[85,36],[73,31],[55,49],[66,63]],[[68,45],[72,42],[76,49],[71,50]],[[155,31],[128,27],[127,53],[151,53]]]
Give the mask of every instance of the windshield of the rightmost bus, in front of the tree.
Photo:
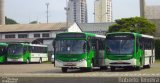
[[[107,53],[115,55],[133,54],[133,39],[111,39],[107,40]]]

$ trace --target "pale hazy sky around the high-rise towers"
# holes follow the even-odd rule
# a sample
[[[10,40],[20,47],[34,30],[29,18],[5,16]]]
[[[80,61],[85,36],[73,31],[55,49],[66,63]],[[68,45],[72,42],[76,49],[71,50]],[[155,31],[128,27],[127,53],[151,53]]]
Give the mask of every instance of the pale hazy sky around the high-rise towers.
[[[49,23],[66,21],[66,0],[4,0],[5,15],[18,23],[46,23],[46,3],[49,3]],[[87,0],[88,22],[94,22],[94,1]],[[146,0],[147,5],[160,5],[160,0]],[[113,20],[140,16],[139,0],[112,0]]]

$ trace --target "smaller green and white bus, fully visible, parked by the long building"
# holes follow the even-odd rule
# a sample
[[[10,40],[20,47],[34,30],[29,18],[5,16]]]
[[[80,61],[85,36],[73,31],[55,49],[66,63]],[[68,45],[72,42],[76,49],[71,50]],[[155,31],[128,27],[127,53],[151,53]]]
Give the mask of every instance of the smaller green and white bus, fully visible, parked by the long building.
[[[40,44],[9,44],[7,62],[39,62],[48,61],[47,45]]]

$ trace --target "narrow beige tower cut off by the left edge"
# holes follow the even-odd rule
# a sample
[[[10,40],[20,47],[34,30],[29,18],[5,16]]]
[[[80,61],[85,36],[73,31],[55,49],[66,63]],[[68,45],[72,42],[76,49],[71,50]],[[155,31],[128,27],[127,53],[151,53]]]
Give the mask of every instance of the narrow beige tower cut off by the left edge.
[[[4,0],[0,0],[0,25],[5,24]]]

